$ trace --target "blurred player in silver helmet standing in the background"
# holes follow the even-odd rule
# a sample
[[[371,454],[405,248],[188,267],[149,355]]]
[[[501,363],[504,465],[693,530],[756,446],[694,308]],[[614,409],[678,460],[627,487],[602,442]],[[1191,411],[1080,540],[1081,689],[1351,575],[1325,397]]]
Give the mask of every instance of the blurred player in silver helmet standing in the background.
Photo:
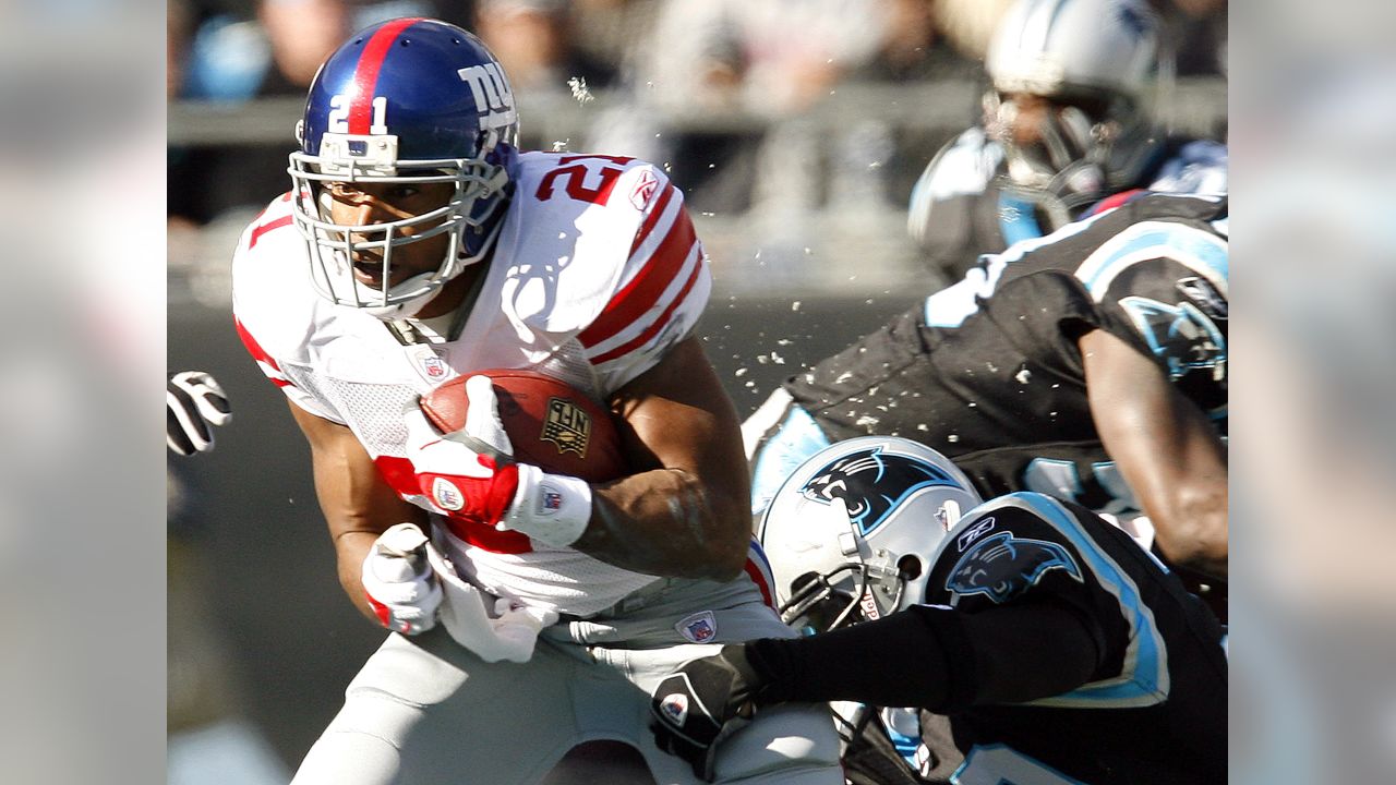
[[[1146,0],[1012,6],[984,60],[983,124],[948,142],[912,191],[907,228],[930,265],[958,281],[979,254],[1113,194],[1226,191],[1224,145],[1167,138],[1149,117],[1157,43]]]

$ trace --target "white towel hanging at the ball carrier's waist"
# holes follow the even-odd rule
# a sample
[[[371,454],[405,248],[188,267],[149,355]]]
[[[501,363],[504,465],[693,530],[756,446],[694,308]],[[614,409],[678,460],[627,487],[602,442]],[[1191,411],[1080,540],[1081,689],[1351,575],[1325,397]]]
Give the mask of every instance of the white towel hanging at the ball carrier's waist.
[[[557,622],[557,612],[491,596],[461,578],[430,542],[426,553],[427,563],[445,588],[441,624],[455,643],[486,662],[528,662],[533,656],[537,633]],[[486,602],[493,605],[494,617],[486,612]]]

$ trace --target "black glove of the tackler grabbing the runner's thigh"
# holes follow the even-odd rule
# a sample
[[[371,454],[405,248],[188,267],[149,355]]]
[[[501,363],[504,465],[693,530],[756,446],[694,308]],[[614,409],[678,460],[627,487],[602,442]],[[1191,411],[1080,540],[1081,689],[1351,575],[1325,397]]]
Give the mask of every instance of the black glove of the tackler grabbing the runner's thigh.
[[[751,719],[764,683],[743,645],[690,659],[664,676],[651,697],[655,744],[687,760],[694,774],[712,782],[718,743]]]

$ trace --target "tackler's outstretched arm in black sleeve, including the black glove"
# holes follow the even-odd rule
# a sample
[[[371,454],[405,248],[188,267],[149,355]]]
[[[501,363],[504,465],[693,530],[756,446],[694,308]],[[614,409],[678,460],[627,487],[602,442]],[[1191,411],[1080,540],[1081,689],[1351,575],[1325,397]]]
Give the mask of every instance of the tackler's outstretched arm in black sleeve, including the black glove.
[[[958,714],[1069,691],[1100,665],[1100,630],[1054,603],[960,613],[913,605],[875,622],[800,638],[725,645],[655,687],[659,749],[712,781],[718,743],[768,705],[849,700]]]

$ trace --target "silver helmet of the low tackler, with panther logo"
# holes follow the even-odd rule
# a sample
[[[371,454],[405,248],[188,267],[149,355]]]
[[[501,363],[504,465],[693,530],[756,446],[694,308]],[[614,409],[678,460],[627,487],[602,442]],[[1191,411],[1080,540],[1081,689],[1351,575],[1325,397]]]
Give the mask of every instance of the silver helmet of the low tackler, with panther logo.
[[[786,478],[757,531],[782,620],[819,633],[924,602],[931,556],[979,503],[965,472],[910,439],[819,450]]]

